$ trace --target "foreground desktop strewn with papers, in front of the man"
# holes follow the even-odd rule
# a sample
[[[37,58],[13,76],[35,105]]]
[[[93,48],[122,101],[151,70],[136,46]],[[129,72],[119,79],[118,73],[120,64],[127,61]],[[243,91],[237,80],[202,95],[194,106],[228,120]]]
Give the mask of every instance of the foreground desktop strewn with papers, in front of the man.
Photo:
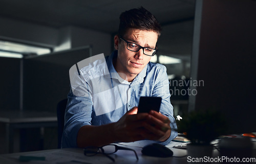
[[[179,143],[179,142],[170,142],[166,145],[167,148],[173,151],[172,157],[152,157],[145,156],[142,154],[141,150],[144,145],[138,145],[135,143],[119,143],[116,144],[121,147],[127,147],[133,149],[138,154],[139,159],[136,159],[136,156],[133,151],[126,150],[118,150],[114,154],[110,154],[111,157],[115,159],[115,163],[188,163],[188,159],[191,159],[187,156],[187,150],[184,148],[173,148],[174,146],[186,146],[187,143]],[[252,157],[256,157],[256,142],[253,142],[253,155]],[[54,164],[67,164],[67,163],[114,163],[108,157],[103,154],[96,154],[94,156],[85,156],[83,154],[83,149],[81,148],[66,148],[66,149],[53,149],[53,150],[43,150],[43,151],[33,151],[33,152],[23,152],[23,153],[12,153],[12,154],[2,154],[0,155],[0,163],[25,163],[19,161],[20,156],[31,156],[31,157],[45,157],[45,160],[31,160],[28,163],[54,163]],[[220,157],[220,153],[217,149],[213,150],[212,157],[217,159]],[[194,162],[197,163],[197,162]],[[221,162],[208,162],[208,163],[221,163]]]

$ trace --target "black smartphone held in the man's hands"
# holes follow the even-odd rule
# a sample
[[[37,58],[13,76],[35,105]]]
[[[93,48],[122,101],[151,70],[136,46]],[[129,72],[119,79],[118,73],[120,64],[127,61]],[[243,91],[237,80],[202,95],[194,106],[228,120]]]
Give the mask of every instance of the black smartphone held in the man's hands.
[[[138,113],[148,113],[151,110],[159,112],[161,102],[161,97],[140,97]]]

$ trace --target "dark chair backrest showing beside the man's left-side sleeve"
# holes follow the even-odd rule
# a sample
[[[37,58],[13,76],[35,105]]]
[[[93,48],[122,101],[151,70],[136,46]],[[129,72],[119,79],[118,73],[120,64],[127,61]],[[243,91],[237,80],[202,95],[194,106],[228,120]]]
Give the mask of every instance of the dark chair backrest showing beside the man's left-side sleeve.
[[[65,110],[67,106],[68,99],[61,100],[57,104],[57,120],[58,120],[58,149],[61,148],[61,137],[64,128],[65,121]]]

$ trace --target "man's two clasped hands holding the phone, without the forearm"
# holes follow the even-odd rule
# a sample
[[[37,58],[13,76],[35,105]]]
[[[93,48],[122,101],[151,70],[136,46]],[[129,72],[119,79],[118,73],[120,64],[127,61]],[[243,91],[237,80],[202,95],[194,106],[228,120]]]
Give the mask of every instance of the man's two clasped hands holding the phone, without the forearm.
[[[159,112],[138,113],[138,107],[126,112],[114,123],[115,136],[120,142],[151,139],[164,141],[170,135],[170,121]]]

